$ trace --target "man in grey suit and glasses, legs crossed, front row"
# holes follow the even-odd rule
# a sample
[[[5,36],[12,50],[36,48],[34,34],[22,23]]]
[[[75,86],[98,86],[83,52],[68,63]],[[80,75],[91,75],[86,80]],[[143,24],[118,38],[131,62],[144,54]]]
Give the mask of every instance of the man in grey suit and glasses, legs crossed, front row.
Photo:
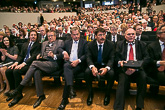
[[[58,52],[58,48],[63,46],[63,41],[56,40],[54,31],[49,31],[47,36],[48,41],[42,43],[41,53],[37,55],[37,61],[33,61],[19,86],[8,94],[9,97],[15,97],[16,95],[22,96],[22,89],[34,76],[37,96],[39,97],[33,105],[34,108],[39,106],[45,99],[42,76],[57,71],[63,60],[62,54]],[[20,99],[22,99],[22,97]],[[18,103],[18,101],[16,103]],[[9,106],[13,106],[14,104],[10,102]]]

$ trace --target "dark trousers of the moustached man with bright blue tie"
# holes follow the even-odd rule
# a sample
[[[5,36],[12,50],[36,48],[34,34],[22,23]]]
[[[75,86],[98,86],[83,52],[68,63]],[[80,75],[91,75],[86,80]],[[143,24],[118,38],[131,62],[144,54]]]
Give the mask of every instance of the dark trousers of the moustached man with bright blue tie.
[[[112,89],[112,86],[114,84],[114,71],[110,70],[104,75],[105,79],[107,80],[107,88],[105,95],[110,95],[110,90]],[[86,80],[86,85],[88,86],[89,89],[89,94],[93,94],[93,89],[92,89],[92,81],[93,81],[93,74],[92,70],[89,68],[86,69],[85,71],[85,80]]]

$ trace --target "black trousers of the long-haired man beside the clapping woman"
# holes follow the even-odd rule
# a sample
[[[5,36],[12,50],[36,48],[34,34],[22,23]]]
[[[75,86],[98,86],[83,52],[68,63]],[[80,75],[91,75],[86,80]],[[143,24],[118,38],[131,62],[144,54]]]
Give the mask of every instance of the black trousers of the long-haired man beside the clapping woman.
[[[22,75],[25,75],[28,69],[29,69],[29,65],[25,65],[21,69],[6,70],[5,74],[7,80],[9,81],[10,89],[15,89],[16,87],[18,87],[18,85],[22,81]]]

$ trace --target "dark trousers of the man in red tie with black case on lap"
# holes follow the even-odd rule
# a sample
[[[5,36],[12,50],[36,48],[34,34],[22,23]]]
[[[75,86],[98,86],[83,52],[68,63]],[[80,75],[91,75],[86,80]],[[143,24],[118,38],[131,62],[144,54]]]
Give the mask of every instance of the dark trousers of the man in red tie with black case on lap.
[[[115,110],[124,110],[126,88],[130,80],[136,80],[137,83],[136,105],[139,108],[144,108],[146,74],[143,70],[140,70],[130,76],[126,75],[124,72],[119,73],[119,83],[116,91],[116,100],[114,103]]]

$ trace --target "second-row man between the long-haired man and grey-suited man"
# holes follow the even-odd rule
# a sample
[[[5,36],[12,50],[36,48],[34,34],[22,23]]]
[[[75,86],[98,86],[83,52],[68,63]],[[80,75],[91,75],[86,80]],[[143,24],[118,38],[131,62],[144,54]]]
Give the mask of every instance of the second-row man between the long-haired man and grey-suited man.
[[[41,26],[39,28],[40,34],[38,35],[38,42],[42,43],[44,41],[48,40],[48,37],[46,36],[46,29],[44,26]]]

